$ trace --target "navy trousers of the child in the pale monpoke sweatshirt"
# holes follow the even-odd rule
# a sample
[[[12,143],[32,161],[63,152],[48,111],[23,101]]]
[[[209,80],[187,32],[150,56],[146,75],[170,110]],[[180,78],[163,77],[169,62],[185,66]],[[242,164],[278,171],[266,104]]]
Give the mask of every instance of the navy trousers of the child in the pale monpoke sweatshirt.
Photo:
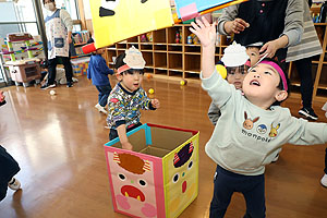
[[[241,192],[246,202],[244,218],[266,217],[265,175],[243,175],[217,166],[214,179],[214,196],[210,204],[210,218],[225,216],[234,192]]]

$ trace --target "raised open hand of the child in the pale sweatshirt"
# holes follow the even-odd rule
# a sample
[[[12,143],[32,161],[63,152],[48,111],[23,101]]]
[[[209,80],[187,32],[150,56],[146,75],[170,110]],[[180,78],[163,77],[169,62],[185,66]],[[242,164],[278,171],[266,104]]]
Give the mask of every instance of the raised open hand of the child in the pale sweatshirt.
[[[198,37],[203,47],[215,46],[216,22],[209,24],[205,17],[202,17],[202,21],[196,20],[196,24],[192,22],[191,25],[193,28],[190,27],[190,31]]]

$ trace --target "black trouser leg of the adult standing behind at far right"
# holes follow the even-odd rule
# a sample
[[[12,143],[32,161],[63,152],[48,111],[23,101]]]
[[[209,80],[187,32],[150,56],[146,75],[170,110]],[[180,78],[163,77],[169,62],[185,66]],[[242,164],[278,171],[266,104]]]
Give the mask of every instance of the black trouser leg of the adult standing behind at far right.
[[[301,97],[304,108],[312,107],[313,81],[311,58],[294,61],[296,71],[301,80]]]

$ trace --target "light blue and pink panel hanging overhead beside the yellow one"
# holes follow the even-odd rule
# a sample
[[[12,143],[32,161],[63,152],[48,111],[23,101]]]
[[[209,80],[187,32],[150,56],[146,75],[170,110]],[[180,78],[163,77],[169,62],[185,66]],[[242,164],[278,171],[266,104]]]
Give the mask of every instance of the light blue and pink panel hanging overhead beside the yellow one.
[[[178,19],[187,21],[202,14],[238,4],[247,0],[175,0]],[[177,21],[175,21],[177,22]]]

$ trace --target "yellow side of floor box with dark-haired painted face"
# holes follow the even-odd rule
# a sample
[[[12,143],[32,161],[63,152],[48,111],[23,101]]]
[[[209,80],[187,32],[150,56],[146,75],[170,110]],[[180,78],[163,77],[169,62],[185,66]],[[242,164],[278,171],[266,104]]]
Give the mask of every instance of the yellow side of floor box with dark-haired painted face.
[[[164,158],[166,217],[178,217],[197,196],[197,143],[185,142]]]

